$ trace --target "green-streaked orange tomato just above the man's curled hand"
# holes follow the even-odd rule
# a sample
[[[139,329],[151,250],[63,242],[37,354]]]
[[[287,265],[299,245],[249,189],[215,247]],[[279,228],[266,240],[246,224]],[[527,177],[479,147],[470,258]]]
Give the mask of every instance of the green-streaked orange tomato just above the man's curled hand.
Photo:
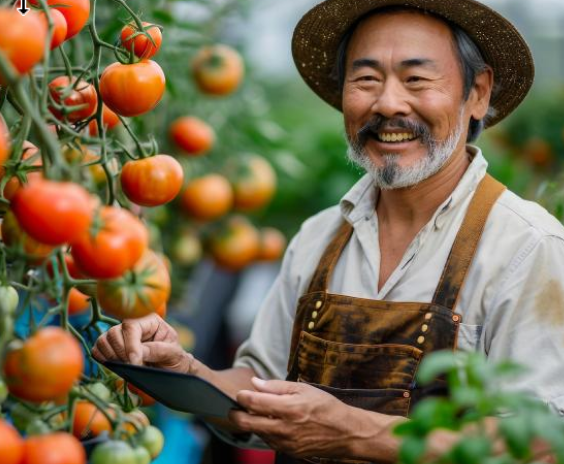
[[[170,276],[164,261],[147,250],[139,262],[120,279],[99,280],[98,302],[118,319],[156,312],[170,296]]]

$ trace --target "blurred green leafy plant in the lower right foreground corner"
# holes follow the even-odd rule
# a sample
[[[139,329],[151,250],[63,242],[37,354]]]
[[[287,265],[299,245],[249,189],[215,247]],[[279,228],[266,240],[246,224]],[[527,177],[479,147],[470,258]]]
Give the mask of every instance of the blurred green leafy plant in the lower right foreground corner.
[[[517,464],[554,454],[564,460],[564,421],[547,405],[509,382],[525,370],[512,362],[493,363],[479,353],[443,351],[427,356],[418,373],[422,385],[448,379],[446,398],[428,398],[414,408],[409,421],[396,427],[402,437],[400,462],[449,464]],[[492,418],[497,418],[492,427]],[[437,431],[458,433],[442,456],[426,455]],[[502,444],[502,446],[500,446]]]

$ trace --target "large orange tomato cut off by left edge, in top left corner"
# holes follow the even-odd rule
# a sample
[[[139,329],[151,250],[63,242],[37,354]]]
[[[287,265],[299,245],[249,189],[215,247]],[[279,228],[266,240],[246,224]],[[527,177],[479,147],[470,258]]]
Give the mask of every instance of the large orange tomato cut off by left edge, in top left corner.
[[[47,24],[39,13],[22,16],[15,9],[0,8],[0,53],[18,74],[27,74],[42,58]],[[33,31],[33,34],[30,34]],[[0,73],[0,85],[6,79]]]

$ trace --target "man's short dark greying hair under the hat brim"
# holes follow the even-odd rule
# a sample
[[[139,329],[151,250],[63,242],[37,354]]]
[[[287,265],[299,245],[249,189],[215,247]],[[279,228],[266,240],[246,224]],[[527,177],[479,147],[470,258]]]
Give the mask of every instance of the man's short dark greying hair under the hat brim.
[[[422,12],[421,10],[416,10],[413,8],[408,7],[390,7],[390,8],[383,8],[377,10],[376,12],[369,13],[370,14],[378,14],[378,13],[389,13],[389,12],[396,12],[396,11],[417,11]],[[468,36],[468,34],[458,27],[456,24],[453,24],[446,19],[436,16],[432,13],[423,12],[424,14],[430,14],[438,18],[439,20],[443,21],[447,26],[450,28],[452,32],[452,36],[454,39],[455,49],[458,55],[458,59],[460,62],[460,67],[462,69],[462,78],[463,78],[463,95],[464,101],[468,100],[470,96],[470,91],[472,87],[476,83],[476,76],[484,72],[489,68],[486,60],[480,52],[480,49],[475,44],[475,42]],[[362,21],[366,16],[360,18],[346,33],[343,35],[341,39],[341,43],[337,50],[337,62],[335,66],[334,77],[337,79],[339,83],[339,89],[341,92],[343,91],[343,87],[345,85],[345,74],[346,74],[346,62],[347,62],[347,49],[350,43],[350,40],[353,36],[353,33],[356,29],[356,26]],[[494,94],[499,89],[494,87]],[[488,112],[483,119],[477,120],[473,117],[470,118],[470,123],[468,125],[468,136],[466,137],[467,143],[472,143],[478,139],[482,131],[484,130],[486,123],[490,118],[495,116],[496,110],[493,106],[490,105],[488,108]]]

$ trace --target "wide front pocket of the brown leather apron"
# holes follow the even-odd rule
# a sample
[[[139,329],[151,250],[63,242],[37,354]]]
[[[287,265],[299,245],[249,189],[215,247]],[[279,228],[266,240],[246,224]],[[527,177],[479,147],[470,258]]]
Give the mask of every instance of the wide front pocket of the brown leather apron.
[[[298,348],[299,377],[346,390],[409,390],[423,352],[411,345],[337,343],[303,331]]]

